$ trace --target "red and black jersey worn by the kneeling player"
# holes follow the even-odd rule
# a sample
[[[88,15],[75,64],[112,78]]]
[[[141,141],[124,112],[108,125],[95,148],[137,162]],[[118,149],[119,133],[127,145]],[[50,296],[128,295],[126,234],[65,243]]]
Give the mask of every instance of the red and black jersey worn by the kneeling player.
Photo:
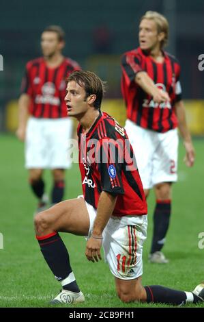
[[[147,203],[134,152],[112,116],[100,113],[87,134],[78,125],[79,167],[85,201],[98,207],[100,193],[119,195],[113,215],[147,214]]]

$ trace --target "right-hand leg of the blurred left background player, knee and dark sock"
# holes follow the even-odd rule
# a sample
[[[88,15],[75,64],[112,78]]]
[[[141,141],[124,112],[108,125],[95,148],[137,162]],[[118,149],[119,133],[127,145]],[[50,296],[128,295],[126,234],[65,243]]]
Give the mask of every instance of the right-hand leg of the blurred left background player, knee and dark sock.
[[[51,203],[62,201],[65,190],[65,169],[53,169],[53,190],[51,193]]]

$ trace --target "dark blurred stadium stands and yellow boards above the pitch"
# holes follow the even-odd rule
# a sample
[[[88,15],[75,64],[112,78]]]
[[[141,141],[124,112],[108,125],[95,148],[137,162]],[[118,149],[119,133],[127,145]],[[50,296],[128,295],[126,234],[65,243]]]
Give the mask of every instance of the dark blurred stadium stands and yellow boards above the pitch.
[[[25,63],[40,53],[44,27],[61,25],[66,32],[64,54],[80,62],[83,69],[95,71],[108,82],[107,99],[121,99],[120,55],[138,45],[139,18],[146,10],[166,15],[170,24],[167,51],[181,62],[181,84],[186,99],[192,134],[204,134],[203,73],[198,57],[203,53],[203,0],[88,0],[60,2],[25,0],[1,1],[0,129],[16,129],[16,99]],[[108,101],[106,110],[123,123],[122,101]],[[109,110],[108,110],[109,111]]]

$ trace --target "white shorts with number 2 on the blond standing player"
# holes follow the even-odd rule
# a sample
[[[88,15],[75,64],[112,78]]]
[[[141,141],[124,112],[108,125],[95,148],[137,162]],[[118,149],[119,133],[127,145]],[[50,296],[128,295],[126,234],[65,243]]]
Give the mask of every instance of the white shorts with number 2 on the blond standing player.
[[[158,133],[143,129],[130,120],[126,121],[125,128],[134,150],[143,188],[177,181],[177,129]]]

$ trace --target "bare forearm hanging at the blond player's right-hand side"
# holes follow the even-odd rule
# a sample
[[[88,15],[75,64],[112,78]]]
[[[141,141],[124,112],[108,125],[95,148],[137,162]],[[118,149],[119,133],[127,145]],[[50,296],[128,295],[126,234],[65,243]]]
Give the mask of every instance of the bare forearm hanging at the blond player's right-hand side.
[[[184,143],[191,143],[192,140],[190,136],[190,131],[188,129],[188,125],[186,123],[186,112],[183,101],[179,101],[175,104],[175,113],[177,115],[178,127],[181,133],[181,137],[184,140]]]

